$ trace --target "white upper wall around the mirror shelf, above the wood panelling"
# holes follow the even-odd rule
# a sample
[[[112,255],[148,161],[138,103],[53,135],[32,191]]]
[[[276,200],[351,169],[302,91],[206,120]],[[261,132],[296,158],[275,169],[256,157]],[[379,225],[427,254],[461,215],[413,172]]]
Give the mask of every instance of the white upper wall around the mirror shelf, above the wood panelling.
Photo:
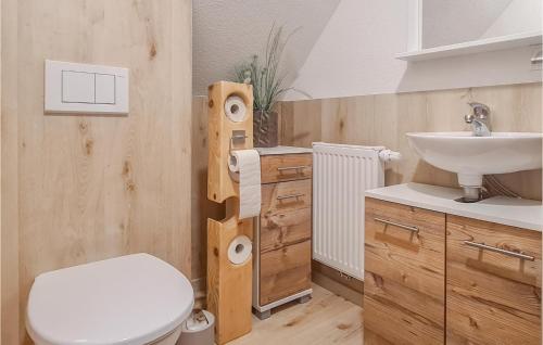
[[[341,0],[292,84],[314,99],[541,81],[538,48],[406,63],[405,0]],[[287,100],[304,99],[290,93]]]

